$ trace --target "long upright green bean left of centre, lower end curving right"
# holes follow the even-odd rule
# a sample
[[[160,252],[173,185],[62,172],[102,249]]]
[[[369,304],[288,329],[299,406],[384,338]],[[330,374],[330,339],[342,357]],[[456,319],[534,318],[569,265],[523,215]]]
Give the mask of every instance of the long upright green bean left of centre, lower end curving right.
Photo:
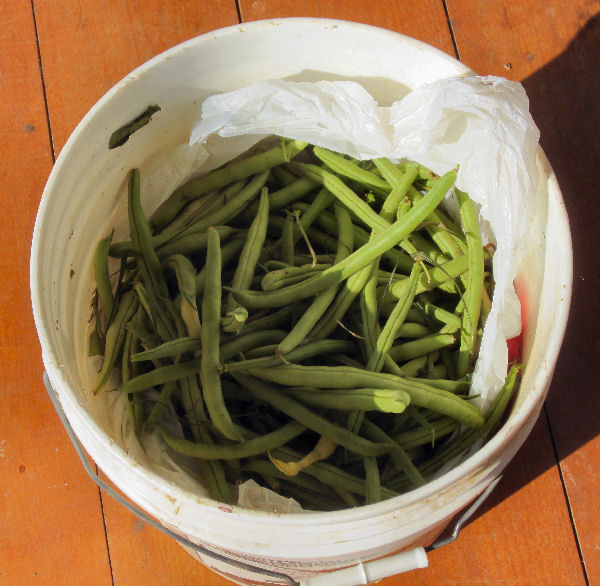
[[[201,380],[206,408],[214,426],[228,439],[243,441],[233,424],[221,390],[219,375],[219,339],[221,316],[221,247],[219,233],[208,229],[206,249],[206,282],[202,298]]]

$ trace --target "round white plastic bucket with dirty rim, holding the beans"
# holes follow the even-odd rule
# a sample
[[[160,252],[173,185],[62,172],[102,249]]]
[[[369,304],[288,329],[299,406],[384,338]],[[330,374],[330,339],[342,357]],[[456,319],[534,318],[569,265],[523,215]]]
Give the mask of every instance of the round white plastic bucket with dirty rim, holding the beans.
[[[539,165],[547,181],[540,189],[547,208],[539,212],[538,246],[519,281],[526,301],[527,367],[518,399],[487,445],[418,490],[331,513],[277,515],[223,506],[139,465],[122,449],[104,414],[92,407],[82,376],[92,252],[123,210],[118,194],[127,171],[160,164],[165,153],[185,142],[205,97],[259,79],[354,79],[387,105],[410,88],[466,73],[436,49],[374,27],[312,19],[254,22],[200,36],[149,61],[110,90],[73,132],[46,185],[32,245],[32,302],[43,361],[86,451],[127,497],[165,527],[228,558],[295,578],[330,571],[431,542],[524,442],[548,390],[571,293],[568,220],[541,150]],[[124,146],[109,150],[110,133],[151,103],[160,105],[160,115]],[[248,576],[223,564],[217,569],[232,579]]]

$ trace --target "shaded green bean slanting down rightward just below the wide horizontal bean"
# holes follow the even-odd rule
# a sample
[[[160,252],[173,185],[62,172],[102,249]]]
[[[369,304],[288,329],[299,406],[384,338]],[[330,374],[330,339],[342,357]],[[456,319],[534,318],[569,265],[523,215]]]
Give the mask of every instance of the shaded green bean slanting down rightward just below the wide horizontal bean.
[[[234,374],[235,380],[248,389],[256,399],[265,401],[279,411],[293,417],[296,421],[305,425],[318,434],[327,437],[345,448],[363,456],[377,456],[384,454],[388,446],[386,444],[373,443],[356,435],[347,429],[331,423],[328,419],[317,415],[298,401],[280,393],[275,387],[255,379],[251,376]],[[307,468],[307,470],[310,466]]]

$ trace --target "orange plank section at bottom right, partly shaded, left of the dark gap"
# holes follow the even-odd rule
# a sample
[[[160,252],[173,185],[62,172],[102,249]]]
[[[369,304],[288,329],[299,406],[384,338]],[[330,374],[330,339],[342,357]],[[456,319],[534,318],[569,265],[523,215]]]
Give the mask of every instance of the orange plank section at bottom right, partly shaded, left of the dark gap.
[[[402,584],[585,584],[545,418],[457,541]]]

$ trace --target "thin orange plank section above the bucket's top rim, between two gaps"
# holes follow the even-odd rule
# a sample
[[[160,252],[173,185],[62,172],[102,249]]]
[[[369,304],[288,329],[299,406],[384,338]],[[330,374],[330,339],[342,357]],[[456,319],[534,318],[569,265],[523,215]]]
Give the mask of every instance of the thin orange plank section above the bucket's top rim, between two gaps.
[[[351,20],[394,30],[455,56],[441,1],[240,0],[239,5],[244,22],[283,17]]]

